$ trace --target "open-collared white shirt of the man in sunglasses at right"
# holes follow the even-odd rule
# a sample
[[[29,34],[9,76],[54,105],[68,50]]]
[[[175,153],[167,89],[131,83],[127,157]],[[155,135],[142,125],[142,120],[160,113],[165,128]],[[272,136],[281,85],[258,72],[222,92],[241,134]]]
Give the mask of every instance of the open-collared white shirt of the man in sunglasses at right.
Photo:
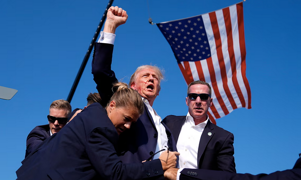
[[[177,149],[181,154],[179,156],[179,168],[197,169],[197,151],[208,120],[209,117],[207,116],[206,121],[195,125],[193,117],[189,112],[187,113],[186,121],[182,125],[177,142]]]

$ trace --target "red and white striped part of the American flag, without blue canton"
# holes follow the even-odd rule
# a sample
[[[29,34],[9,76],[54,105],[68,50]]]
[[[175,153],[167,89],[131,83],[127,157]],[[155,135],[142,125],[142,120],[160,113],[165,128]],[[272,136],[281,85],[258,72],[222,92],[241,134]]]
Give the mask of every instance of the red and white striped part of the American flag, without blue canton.
[[[202,15],[211,57],[184,61],[179,67],[187,84],[202,80],[212,88],[210,120],[223,117],[236,108],[251,108],[251,90],[246,78],[243,3]]]

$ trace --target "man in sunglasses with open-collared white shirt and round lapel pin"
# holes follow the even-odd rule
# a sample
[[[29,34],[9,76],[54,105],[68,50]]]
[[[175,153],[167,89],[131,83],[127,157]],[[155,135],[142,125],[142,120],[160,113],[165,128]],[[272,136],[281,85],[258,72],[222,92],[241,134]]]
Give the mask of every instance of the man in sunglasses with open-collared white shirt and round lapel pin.
[[[169,115],[163,122],[175,138],[179,168],[236,172],[234,136],[211,123],[207,115],[212,104],[211,87],[204,81],[188,85],[186,116]]]

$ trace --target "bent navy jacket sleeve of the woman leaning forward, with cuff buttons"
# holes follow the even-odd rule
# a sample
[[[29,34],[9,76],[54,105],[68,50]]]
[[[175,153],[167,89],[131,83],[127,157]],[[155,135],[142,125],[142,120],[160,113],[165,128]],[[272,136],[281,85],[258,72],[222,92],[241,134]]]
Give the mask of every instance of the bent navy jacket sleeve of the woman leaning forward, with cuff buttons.
[[[123,163],[114,151],[114,146],[109,141],[111,138],[107,137],[108,134],[111,132],[106,128],[95,129],[88,137],[89,145],[86,147],[92,166],[102,178],[120,180],[154,177],[164,179],[159,159],[144,163]]]

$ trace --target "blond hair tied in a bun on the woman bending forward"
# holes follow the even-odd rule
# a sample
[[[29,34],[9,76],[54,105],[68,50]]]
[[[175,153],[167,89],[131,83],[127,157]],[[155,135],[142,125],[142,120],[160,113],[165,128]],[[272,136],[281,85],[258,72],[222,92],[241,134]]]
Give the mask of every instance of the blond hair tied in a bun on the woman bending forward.
[[[118,82],[113,84],[114,94],[108,102],[107,106],[110,105],[111,101],[115,101],[116,108],[129,107],[136,108],[139,114],[144,112],[144,103],[141,96],[137,91],[129,88],[126,83]]]

